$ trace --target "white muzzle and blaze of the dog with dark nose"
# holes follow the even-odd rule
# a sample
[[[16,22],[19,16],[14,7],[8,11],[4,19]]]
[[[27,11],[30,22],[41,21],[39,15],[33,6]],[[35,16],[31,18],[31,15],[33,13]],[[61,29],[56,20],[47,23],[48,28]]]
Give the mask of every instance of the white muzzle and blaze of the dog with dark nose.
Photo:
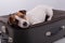
[[[21,18],[21,17],[18,17],[18,16],[15,16],[15,18],[18,20],[18,26],[21,27],[21,28],[28,28],[29,27],[29,22],[28,20],[26,20],[26,19],[23,19],[23,18]]]

